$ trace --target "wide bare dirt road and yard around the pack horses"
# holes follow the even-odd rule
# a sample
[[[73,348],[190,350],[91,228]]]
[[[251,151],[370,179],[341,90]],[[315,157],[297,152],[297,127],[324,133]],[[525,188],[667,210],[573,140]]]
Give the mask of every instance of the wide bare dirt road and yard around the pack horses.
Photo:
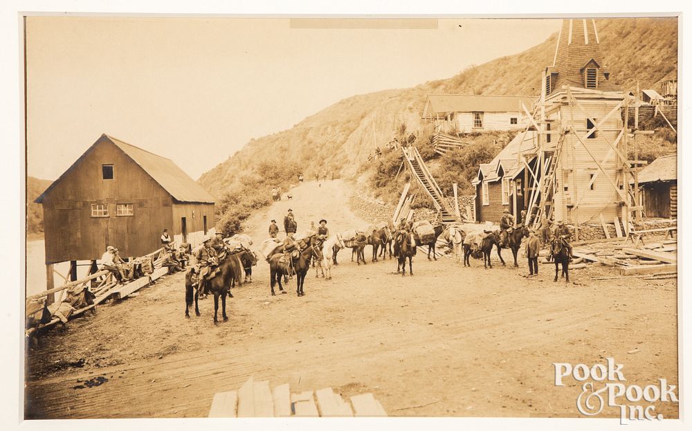
[[[321,217],[332,232],[364,224],[347,208],[345,183],[305,183],[292,194],[249,221],[255,244],[269,219],[282,225],[289,206],[299,230]],[[422,253],[415,276],[401,277],[394,261],[371,264],[369,246],[365,253],[366,266],[340,254],[331,282],[311,270],[304,297],[293,282],[289,294],[271,297],[260,262],[218,325],[210,300],[201,317],[183,317],[180,274],[100,306],[30,351],[27,415],[206,416],[215,392],[254,375],[289,383],[291,392],[373,392],[392,416],[581,416],[581,383],[555,387],[552,363],[608,357],[624,365],[630,384],[677,385],[675,280],[593,281],[614,274],[589,268],[574,271],[574,283],[554,283],[549,265],[527,279],[523,261],[486,270],[481,261],[463,268]],[[98,377],[100,385],[86,386]],[[656,412],[677,417],[677,405],[659,403]]]

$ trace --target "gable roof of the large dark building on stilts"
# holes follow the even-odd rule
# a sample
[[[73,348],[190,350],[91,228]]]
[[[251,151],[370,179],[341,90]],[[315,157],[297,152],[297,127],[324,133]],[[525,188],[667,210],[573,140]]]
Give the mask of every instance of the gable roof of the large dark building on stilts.
[[[80,158],[73,163],[69,169],[67,169],[57,180],[46,189],[45,192],[39,196],[35,202],[42,203],[46,194],[51,192],[53,187],[60,183],[65,174],[71,172],[71,170],[76,169],[80,164],[82,159],[91,152],[91,150],[104,142],[104,140],[109,141],[113,145],[116,145],[122,152],[124,152],[129,158],[131,158],[137,165],[139,165],[149,176],[151,176],[156,183],[161,185],[163,189],[168,192],[173,199],[178,202],[196,202],[196,203],[214,203],[215,199],[209,192],[204,190],[204,188],[194,181],[188,174],[185,174],[183,169],[178,165],[173,163],[170,158],[165,158],[158,156],[154,153],[147,152],[144,149],[135,147],[125,143],[118,138],[113,138],[107,134],[103,134],[89,149],[80,156]]]

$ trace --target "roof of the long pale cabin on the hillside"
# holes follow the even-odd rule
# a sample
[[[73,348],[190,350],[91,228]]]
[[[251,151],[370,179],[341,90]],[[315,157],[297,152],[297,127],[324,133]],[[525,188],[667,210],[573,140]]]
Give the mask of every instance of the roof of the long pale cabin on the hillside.
[[[428,94],[423,118],[450,112],[521,112],[522,103],[531,109],[534,100],[530,95]]]

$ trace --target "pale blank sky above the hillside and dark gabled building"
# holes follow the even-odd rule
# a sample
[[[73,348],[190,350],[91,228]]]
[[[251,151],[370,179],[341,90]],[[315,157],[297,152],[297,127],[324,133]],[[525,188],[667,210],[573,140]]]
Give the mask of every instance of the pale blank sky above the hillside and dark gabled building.
[[[28,17],[27,173],[54,180],[109,134],[197,179],[338,100],[451,77],[560,22]]]

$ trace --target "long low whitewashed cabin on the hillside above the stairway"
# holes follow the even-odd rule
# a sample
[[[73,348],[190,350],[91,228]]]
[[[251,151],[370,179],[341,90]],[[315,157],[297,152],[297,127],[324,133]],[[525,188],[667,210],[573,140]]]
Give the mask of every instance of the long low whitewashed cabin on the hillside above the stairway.
[[[522,129],[529,124],[522,104],[530,109],[535,100],[521,95],[430,94],[422,118],[440,125],[446,134]]]

